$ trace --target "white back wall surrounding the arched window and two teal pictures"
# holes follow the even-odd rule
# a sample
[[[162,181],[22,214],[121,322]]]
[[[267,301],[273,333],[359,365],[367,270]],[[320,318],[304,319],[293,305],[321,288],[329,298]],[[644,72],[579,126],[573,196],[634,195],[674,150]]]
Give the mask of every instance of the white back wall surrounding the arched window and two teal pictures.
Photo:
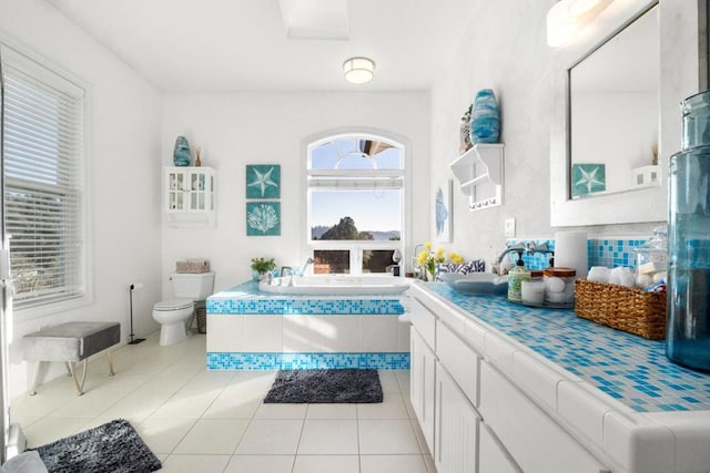
[[[162,164],[172,165],[175,137],[202,147],[203,166],[217,169],[216,227],[169,228],[163,217],[163,287],[175,260],[206,258],[216,273],[215,290],[251,277],[254,256],[301,266],[306,230],[306,138],[346,127],[377,130],[408,142],[416,222],[413,244],[428,237],[428,93],[223,93],[166,95],[163,103]],[[193,156],[194,160],[194,156]],[[281,164],[281,236],[246,237],[245,164]],[[422,192],[424,191],[424,192]],[[410,249],[410,248],[408,248]]]

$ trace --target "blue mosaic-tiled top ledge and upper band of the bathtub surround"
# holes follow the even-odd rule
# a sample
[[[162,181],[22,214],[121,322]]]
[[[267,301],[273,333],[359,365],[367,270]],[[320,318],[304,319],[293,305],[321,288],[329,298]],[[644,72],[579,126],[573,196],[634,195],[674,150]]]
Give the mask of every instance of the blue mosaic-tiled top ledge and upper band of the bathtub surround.
[[[392,295],[283,295],[263,292],[247,281],[207,298],[207,313],[219,315],[399,315],[404,307]]]

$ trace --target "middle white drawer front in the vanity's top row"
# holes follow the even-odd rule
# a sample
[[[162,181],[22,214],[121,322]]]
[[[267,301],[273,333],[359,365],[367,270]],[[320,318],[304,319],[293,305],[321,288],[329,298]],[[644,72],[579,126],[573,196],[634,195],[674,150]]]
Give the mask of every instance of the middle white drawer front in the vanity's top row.
[[[436,354],[468,401],[478,405],[478,356],[442,322],[436,328]]]

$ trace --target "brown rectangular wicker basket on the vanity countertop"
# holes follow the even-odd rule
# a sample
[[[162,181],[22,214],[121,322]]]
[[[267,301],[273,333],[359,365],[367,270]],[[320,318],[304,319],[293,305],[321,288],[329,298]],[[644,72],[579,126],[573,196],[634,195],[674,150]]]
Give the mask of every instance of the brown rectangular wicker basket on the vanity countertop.
[[[666,338],[666,292],[577,279],[575,313],[651,340]]]

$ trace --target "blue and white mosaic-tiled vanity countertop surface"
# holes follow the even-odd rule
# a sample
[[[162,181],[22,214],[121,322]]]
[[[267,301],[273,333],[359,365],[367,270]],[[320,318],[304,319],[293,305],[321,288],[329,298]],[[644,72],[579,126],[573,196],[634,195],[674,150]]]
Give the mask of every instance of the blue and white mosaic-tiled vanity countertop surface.
[[[572,310],[464,295],[445,284],[426,287],[638,412],[710,410],[710,374],[670,362],[663,341],[594,323]]]

